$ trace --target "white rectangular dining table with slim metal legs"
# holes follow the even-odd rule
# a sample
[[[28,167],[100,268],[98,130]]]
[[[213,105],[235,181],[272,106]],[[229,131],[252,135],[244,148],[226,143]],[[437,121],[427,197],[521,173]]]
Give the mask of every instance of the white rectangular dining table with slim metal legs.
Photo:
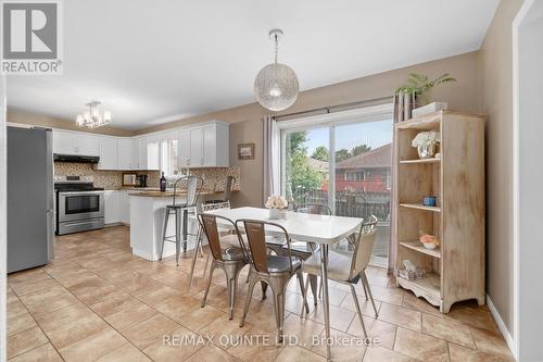
[[[298,241],[316,242],[320,245],[320,276],[323,284],[323,305],[325,313],[325,333],[327,359],[330,360],[330,304],[328,297],[328,247],[339,242],[356,232],[359,232],[362,219],[318,215],[289,211],[285,217],[269,219],[269,210],[260,208],[219,209],[209,211],[236,222],[237,220],[256,220],[278,224],[287,230],[289,237]],[[220,220],[217,220],[220,223]],[[222,226],[232,226],[224,223]],[[282,234],[279,228],[267,227],[266,234]],[[279,234],[280,235],[280,234]]]

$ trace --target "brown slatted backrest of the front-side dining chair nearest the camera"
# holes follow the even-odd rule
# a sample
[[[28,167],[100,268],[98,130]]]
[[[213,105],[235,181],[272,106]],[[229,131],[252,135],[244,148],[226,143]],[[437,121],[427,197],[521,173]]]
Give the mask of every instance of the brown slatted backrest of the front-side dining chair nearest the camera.
[[[285,234],[285,238],[287,240],[288,246],[288,255],[290,262],[290,271],[292,272],[292,254],[290,249],[290,237],[285,227],[275,223],[263,222],[260,220],[237,220],[236,228],[238,230],[238,235],[240,233],[240,225],[243,225],[243,229],[245,232],[245,237],[249,244],[249,252],[251,253],[251,263],[254,265],[254,269],[260,273],[269,273],[268,263],[267,263],[267,247],[266,247],[266,226],[279,228],[281,234]]]

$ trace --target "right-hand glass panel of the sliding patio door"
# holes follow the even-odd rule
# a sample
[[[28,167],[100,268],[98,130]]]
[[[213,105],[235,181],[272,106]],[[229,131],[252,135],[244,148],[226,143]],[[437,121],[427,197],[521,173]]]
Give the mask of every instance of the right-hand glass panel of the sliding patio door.
[[[372,263],[387,265],[392,186],[392,120],[334,127],[336,215],[377,216]]]

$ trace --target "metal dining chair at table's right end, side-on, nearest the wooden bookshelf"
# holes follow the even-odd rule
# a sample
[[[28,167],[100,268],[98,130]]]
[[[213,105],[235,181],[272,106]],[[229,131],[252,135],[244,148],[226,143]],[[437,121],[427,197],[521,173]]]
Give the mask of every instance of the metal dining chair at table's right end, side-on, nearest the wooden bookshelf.
[[[346,284],[351,287],[351,294],[353,296],[354,305],[356,308],[356,313],[364,330],[364,336],[367,338],[366,326],[364,325],[364,320],[362,317],[361,305],[358,299],[356,298],[356,291],[354,290],[354,285],[362,280],[362,286],[366,295],[366,299],[369,296],[371,299],[371,304],[374,305],[375,316],[378,317],[379,313],[371,295],[371,289],[366,276],[366,267],[368,266],[369,259],[371,257],[371,250],[374,249],[375,238],[376,238],[376,226],[377,217],[371,216],[369,223],[363,223],[361,225],[361,230],[357,235],[357,240],[355,242],[354,252],[337,252],[334,250],[329,250],[328,252],[328,278],[334,282]],[[302,271],[312,275],[320,275],[320,255],[314,253],[311,258],[304,261],[302,265]],[[305,287],[310,279],[305,280]],[[306,296],[302,302],[302,312],[300,317],[304,315],[304,305],[306,304]]]

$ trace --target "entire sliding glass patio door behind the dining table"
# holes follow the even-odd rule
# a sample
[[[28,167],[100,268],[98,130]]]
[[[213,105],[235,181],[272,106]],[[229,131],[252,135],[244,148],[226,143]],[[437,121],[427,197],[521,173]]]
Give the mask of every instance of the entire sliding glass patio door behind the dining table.
[[[300,204],[328,204],[340,216],[377,216],[371,262],[386,266],[391,225],[391,115],[336,116],[311,126],[289,121],[283,127],[282,194]]]

